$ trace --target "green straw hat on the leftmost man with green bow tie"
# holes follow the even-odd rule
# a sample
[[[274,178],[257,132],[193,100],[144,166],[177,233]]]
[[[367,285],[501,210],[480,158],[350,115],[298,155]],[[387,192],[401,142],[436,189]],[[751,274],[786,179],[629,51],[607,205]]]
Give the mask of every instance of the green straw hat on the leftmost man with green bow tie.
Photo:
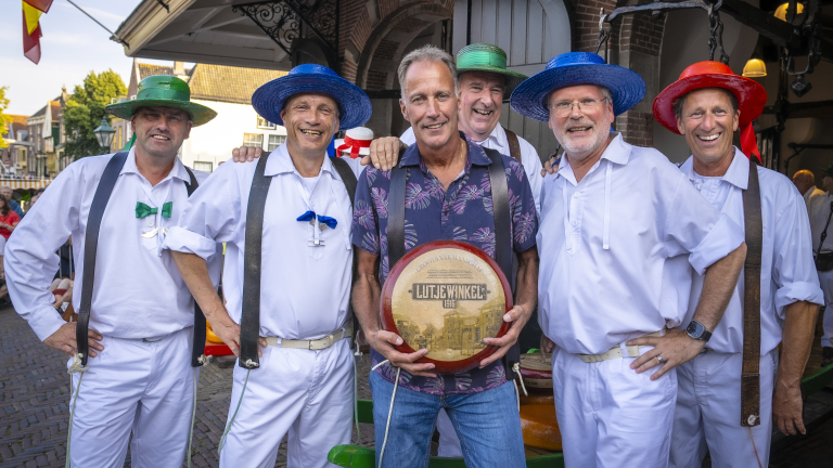
[[[155,75],[139,83],[136,99],[104,107],[107,113],[130,119],[142,107],[171,107],[184,110],[188,117],[198,127],[217,117],[217,112],[197,103],[191,102],[191,88],[183,80],[170,75]]]

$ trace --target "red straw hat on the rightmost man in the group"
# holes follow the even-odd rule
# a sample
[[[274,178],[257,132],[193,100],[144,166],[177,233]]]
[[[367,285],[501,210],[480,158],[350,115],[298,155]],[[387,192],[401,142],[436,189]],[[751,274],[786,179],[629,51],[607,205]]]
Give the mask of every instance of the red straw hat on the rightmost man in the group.
[[[767,104],[767,91],[753,79],[727,74],[694,75],[675,81],[656,96],[653,105],[656,121],[670,132],[681,134],[677,129],[674,101],[691,91],[703,88],[722,88],[734,94],[738,99],[738,108],[741,112],[739,122],[741,126],[758,118]]]

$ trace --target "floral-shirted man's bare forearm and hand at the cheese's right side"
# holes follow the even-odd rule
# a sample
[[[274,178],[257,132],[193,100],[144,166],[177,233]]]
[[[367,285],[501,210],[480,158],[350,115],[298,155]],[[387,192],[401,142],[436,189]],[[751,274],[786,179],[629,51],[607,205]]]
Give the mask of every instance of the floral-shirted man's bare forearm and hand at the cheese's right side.
[[[538,301],[538,248],[531,247],[518,253],[517,256],[517,302],[503,315],[503,322],[512,325],[500,338],[484,338],[484,342],[489,346],[498,347],[498,350],[480,361],[480,368],[486,367],[492,362],[503,358],[503,355],[517,342],[521,330],[524,328],[533,310]]]

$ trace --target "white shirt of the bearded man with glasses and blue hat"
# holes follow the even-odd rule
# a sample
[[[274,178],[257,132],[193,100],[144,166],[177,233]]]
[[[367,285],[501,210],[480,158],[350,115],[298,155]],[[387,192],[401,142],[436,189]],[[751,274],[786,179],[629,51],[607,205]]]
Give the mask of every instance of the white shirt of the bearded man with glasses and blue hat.
[[[541,190],[538,317],[569,353],[677,326],[685,308],[674,306],[671,282],[691,276],[666,260],[684,253],[703,273],[743,242],[662,153],[612,135],[581,182],[562,158]]]

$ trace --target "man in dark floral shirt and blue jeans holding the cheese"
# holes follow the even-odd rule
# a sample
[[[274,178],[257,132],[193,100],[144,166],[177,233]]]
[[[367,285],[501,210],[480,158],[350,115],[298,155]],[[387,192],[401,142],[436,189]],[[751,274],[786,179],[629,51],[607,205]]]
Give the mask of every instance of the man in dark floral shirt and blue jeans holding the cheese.
[[[491,211],[491,159],[484,150],[457,130],[458,101],[454,61],[446,52],[425,47],[402,58],[400,106],[411,123],[416,144],[399,166],[409,167],[405,196],[406,251],[438,239],[461,240],[495,255],[495,220]],[[355,311],[371,351],[376,435],[376,465],[416,466],[427,460],[437,413],[445,407],[460,437],[469,467],[525,466],[521,419],[515,389],[508,382],[500,360],[516,342],[537,297],[538,221],[529,182],[515,160],[501,156],[509,193],[512,247],[518,257],[516,306],[503,317],[511,323],[507,335],[486,338],[498,348],[467,373],[440,375],[434,364],[414,363],[427,353],[399,353],[402,339],[380,329],[381,284],[388,263],[388,193],[390,172],[368,166],[359,179],[354,212],[353,243],[359,270],[354,289]],[[381,365],[377,365],[381,364]],[[398,387],[397,369],[400,367]],[[397,390],[395,401],[394,390]]]

